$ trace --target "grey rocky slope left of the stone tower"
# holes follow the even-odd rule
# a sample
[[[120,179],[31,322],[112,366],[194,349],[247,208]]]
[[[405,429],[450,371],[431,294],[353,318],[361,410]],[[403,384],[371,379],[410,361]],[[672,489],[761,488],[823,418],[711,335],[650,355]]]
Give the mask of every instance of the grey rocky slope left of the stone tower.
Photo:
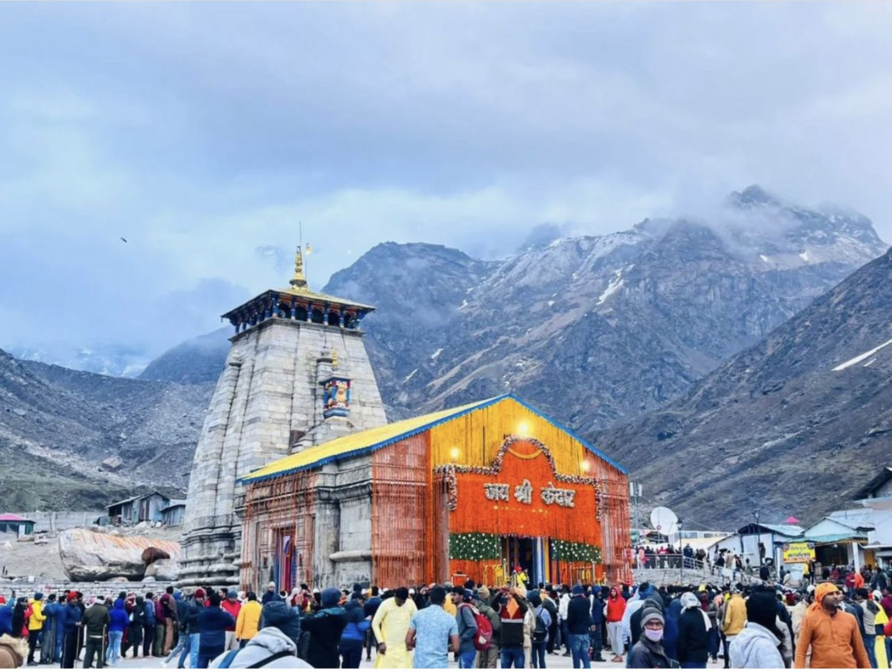
[[[0,510],[102,508],[146,485],[182,491],[211,390],[0,351]]]

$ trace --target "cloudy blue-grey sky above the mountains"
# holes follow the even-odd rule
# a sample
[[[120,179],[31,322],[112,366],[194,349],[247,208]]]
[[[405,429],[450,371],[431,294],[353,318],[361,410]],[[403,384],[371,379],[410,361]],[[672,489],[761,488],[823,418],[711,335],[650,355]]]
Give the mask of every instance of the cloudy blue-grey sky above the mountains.
[[[888,4],[0,4],[0,347],[157,353],[385,240],[757,182],[892,240]],[[120,236],[128,239],[125,244]]]

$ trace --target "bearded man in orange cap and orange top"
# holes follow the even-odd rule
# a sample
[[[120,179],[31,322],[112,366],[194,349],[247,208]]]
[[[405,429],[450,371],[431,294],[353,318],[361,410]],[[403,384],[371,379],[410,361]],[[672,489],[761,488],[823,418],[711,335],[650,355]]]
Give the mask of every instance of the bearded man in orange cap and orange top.
[[[840,609],[842,591],[836,584],[824,582],[814,589],[799,631],[796,667],[805,668],[805,652],[812,648],[812,668],[870,668],[858,622]]]

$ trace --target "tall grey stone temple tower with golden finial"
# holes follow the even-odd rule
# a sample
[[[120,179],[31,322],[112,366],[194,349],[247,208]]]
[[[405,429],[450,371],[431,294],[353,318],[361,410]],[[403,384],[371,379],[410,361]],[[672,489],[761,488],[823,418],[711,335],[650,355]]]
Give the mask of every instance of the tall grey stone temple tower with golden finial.
[[[285,289],[223,317],[235,328],[195,450],[181,585],[236,585],[244,486],[268,462],[387,421],[360,320],[372,306],[310,291],[298,248]]]

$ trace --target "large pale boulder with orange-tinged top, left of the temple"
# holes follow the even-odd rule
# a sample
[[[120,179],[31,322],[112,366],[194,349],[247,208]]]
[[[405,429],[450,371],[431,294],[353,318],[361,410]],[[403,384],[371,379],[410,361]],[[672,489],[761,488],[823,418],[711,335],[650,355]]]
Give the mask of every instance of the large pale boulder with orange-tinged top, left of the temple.
[[[147,548],[159,549],[179,560],[177,542],[146,536],[103,535],[79,527],[59,535],[62,568],[71,581],[104,581],[114,577],[139,581],[145,576],[143,552]]]

